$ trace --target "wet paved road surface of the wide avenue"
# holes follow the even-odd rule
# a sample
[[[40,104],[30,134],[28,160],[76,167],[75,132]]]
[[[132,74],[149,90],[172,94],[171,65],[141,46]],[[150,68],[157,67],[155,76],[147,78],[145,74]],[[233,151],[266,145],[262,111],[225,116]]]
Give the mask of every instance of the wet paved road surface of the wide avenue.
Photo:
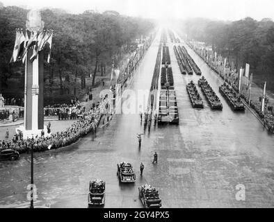
[[[132,89],[149,89],[160,33],[137,70]],[[169,40],[169,38],[168,38]],[[212,111],[191,107],[186,84],[198,76],[183,76],[169,42],[179,107],[179,126],[152,126],[138,148],[136,133],[143,132],[138,114],[117,114],[110,125],[58,151],[35,153],[35,206],[88,207],[88,182],[106,180],[105,207],[142,207],[138,186],[159,189],[163,207],[274,207],[274,137],[247,110],[233,112],[218,92],[222,81],[188,47],[205,78],[223,103]],[[128,101],[133,101],[129,97]],[[159,154],[152,164],[153,153]],[[116,164],[129,161],[137,173],[133,185],[119,184]],[[140,161],[145,164],[139,176]],[[29,157],[0,163],[0,207],[26,207],[30,177]],[[236,185],[245,185],[245,201],[236,200]]]

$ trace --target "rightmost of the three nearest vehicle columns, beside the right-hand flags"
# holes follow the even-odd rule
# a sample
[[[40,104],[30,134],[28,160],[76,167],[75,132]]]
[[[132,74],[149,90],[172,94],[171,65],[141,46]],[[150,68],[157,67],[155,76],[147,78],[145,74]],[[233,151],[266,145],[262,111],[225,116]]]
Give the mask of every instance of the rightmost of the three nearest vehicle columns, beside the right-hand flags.
[[[220,85],[219,92],[225,98],[232,110],[245,111],[245,106],[243,105],[240,96],[236,94],[236,92],[234,92],[234,90],[229,87],[227,83]]]

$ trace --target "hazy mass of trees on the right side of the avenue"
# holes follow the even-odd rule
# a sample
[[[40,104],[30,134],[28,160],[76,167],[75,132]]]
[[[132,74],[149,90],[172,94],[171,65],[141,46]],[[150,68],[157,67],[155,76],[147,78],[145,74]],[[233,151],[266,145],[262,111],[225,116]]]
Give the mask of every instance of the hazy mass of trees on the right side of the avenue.
[[[271,19],[256,21],[250,17],[223,22],[195,18],[184,21],[184,33],[189,39],[206,42],[213,51],[234,60],[237,69],[250,64],[259,85],[267,80],[274,90],[274,22]]]

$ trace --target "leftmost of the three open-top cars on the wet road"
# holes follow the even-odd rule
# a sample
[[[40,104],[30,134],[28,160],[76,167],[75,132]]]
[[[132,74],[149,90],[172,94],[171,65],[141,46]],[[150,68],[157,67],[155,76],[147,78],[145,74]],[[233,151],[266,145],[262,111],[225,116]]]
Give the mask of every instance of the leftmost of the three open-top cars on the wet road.
[[[104,205],[105,203],[106,182],[103,180],[90,180],[90,188],[88,194],[89,205]]]

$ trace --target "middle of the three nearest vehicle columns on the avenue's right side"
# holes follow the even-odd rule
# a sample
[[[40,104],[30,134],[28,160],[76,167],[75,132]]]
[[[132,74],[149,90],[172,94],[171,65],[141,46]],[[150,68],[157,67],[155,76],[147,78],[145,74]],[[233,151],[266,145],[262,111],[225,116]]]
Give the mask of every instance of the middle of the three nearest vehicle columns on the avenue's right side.
[[[223,104],[220,102],[219,97],[213,91],[204,76],[198,80],[198,85],[201,87],[202,93],[207,98],[210,108],[212,110],[223,110]]]

